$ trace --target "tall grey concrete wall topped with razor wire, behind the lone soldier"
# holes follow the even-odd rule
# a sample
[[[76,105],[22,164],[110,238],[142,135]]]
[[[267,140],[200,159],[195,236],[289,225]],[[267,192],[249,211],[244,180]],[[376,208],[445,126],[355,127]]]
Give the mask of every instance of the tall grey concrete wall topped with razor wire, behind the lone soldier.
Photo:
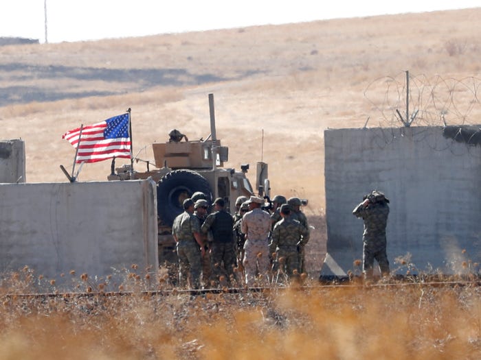
[[[326,130],[324,140],[328,256],[321,276],[359,272],[353,261],[362,259],[363,221],[352,211],[374,189],[390,199],[391,270],[477,271],[480,144],[452,139],[439,127]],[[398,256],[406,265],[395,263]]]

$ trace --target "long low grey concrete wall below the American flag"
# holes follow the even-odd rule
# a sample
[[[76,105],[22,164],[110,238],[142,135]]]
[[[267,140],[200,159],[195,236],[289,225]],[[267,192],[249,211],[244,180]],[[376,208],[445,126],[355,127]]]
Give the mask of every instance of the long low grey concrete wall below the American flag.
[[[157,270],[154,182],[0,184],[0,199],[0,271],[27,265],[59,284],[72,269],[91,279]]]

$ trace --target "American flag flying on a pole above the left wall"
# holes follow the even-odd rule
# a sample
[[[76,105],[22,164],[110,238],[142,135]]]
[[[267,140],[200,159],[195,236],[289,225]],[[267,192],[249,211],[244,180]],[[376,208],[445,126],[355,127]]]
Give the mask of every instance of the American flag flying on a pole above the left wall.
[[[75,148],[78,146],[76,163],[96,163],[109,158],[130,158],[131,139],[128,136],[129,114],[111,117],[101,123],[70,130],[62,135]]]

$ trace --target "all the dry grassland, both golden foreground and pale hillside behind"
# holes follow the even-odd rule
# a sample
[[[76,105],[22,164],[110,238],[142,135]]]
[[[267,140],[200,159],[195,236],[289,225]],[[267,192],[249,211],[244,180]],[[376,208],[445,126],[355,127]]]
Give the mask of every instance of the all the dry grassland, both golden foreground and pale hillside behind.
[[[214,93],[228,166],[265,161],[274,194],[309,199],[315,284],[326,240],[324,130],[401,126],[394,110],[403,112],[405,71],[422,93],[413,97],[421,110],[413,125],[440,125],[441,115],[448,124],[479,123],[480,18],[477,8],[0,47],[1,139],[25,140],[27,182],[65,182],[59,165],[70,169],[74,158],[61,139],[67,130],[131,108],[134,154],[153,160],[150,145],[172,128],[208,136]],[[429,102],[441,87],[444,97]],[[108,161],[85,165],[79,180],[106,180],[109,171]],[[39,276],[28,274],[3,278],[1,294],[25,291]],[[478,292],[415,285],[194,298],[2,295],[0,358],[479,359]]]

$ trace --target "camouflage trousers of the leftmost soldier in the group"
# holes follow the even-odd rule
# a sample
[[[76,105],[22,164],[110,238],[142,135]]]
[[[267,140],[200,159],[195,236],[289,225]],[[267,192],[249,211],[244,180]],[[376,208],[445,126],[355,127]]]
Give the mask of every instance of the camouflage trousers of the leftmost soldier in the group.
[[[201,278],[201,250],[193,240],[180,240],[177,243],[177,256],[179,256],[180,285],[187,286],[189,279],[192,289],[200,288]]]

